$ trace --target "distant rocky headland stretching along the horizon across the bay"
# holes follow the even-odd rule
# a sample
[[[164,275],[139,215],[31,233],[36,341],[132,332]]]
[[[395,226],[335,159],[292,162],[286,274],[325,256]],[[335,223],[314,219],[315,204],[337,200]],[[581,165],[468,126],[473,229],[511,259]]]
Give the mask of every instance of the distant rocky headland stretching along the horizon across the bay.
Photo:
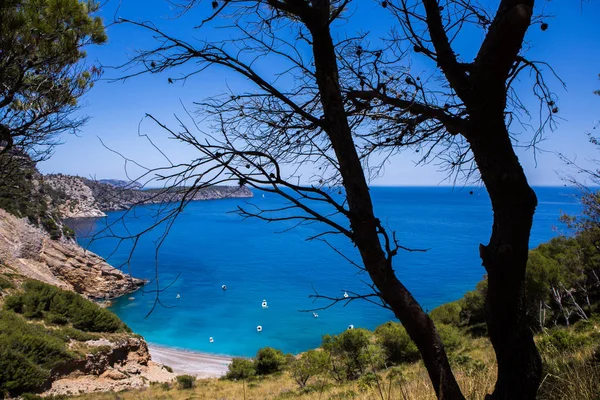
[[[186,200],[218,200],[224,198],[247,198],[253,193],[245,186],[213,186],[187,193],[187,188],[141,190],[136,182],[119,180],[94,181],[79,176],[51,174],[44,182],[64,202],[59,206],[62,218],[90,218],[104,216],[104,211],[126,210],[134,205],[158,204]]]

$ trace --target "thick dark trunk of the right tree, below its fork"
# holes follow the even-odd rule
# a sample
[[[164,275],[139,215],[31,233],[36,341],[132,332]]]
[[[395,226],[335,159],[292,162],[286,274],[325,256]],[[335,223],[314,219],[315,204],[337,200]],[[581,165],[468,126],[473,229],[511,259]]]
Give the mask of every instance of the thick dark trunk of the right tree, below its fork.
[[[480,245],[488,273],[486,319],[498,362],[498,380],[488,398],[533,400],[542,367],[527,325],[524,282],[537,198],[514,153],[502,113],[481,113],[471,121],[466,136],[494,211],[490,242]]]

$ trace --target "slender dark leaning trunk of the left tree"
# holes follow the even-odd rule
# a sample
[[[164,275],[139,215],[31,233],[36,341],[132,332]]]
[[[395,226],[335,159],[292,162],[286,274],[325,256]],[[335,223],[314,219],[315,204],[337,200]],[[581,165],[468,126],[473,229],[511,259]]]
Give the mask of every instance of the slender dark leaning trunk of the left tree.
[[[323,4],[326,9],[321,13],[322,18],[307,21],[307,27],[313,39],[315,75],[324,111],[324,129],[335,151],[346,189],[352,239],[373,283],[421,352],[438,397],[463,400],[464,396],[452,374],[444,345],[433,322],[398,280],[391,257],[386,257],[383,251],[378,233],[380,222],[373,213],[369,187],[344,109],[335,48],[329,31],[328,2]]]

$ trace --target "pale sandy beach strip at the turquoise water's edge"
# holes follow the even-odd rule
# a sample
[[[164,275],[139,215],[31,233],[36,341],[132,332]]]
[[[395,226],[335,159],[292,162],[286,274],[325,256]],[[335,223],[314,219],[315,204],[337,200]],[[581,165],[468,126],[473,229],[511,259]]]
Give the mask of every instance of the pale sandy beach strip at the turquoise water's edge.
[[[173,368],[177,374],[196,375],[199,378],[218,378],[225,375],[231,357],[169,347],[148,345],[152,361]]]

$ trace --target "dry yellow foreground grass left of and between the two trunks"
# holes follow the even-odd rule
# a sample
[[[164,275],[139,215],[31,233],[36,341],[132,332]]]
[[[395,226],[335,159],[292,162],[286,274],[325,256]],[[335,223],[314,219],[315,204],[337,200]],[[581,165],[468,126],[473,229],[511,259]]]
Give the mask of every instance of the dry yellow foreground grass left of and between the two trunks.
[[[475,340],[469,348],[468,362],[457,364],[457,379],[467,399],[482,399],[496,380],[493,353],[484,340]],[[313,378],[300,389],[288,373],[257,379],[245,384],[219,379],[196,381],[193,389],[181,390],[176,385],[152,385],[142,390],[121,393],[88,394],[81,400],[434,400],[437,399],[422,363],[394,367],[377,374],[378,379],[359,379],[336,383],[325,377]]]

